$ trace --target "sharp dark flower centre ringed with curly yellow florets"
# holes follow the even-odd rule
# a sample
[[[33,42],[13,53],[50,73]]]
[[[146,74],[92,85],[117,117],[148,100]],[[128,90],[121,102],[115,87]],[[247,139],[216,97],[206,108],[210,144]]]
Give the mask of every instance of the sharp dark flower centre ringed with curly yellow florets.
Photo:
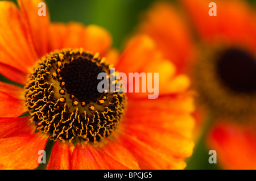
[[[97,92],[100,72],[110,77],[104,58],[82,49],[43,57],[25,87],[26,106],[36,128],[55,141],[80,138],[96,143],[110,136],[122,118],[126,96]]]

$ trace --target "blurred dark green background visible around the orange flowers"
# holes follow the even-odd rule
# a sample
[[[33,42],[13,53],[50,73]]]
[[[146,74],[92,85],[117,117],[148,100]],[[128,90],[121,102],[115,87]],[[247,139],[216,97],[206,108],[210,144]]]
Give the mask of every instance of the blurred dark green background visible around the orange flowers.
[[[256,3],[256,0],[248,1]],[[112,33],[113,46],[118,49],[121,49],[123,39],[138,24],[141,13],[152,2],[154,0],[46,0],[52,22],[75,21],[105,27]],[[10,82],[2,75],[0,80]],[[203,136],[188,159],[186,169],[221,169],[218,161],[217,164],[208,162],[208,151]]]

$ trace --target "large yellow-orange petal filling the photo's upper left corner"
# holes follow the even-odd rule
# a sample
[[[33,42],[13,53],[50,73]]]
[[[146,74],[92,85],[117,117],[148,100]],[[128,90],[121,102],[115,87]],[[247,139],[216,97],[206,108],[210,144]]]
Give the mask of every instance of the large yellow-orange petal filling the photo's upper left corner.
[[[28,73],[30,66],[35,62],[35,57],[27,40],[19,10],[13,2],[1,1],[0,11],[0,27],[3,27],[0,29],[0,62],[8,65],[9,69],[14,67],[23,73]],[[12,77],[8,76],[6,71],[4,75]]]

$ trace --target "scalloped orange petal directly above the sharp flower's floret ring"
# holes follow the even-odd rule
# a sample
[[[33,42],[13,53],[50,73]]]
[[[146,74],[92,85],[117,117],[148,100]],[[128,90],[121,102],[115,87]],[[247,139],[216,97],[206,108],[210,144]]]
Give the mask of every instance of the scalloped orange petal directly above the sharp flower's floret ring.
[[[86,51],[106,53],[112,44],[110,33],[104,28],[80,23],[52,23],[50,31],[50,50],[63,48],[83,48]],[[64,37],[64,38],[63,38]]]

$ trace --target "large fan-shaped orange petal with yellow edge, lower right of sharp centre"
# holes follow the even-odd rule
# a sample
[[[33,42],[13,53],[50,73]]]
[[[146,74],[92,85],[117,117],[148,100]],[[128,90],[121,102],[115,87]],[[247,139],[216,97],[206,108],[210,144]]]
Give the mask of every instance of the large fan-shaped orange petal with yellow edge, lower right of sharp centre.
[[[141,169],[184,169],[183,159],[194,146],[192,110],[185,96],[129,100],[114,138],[134,155]]]

